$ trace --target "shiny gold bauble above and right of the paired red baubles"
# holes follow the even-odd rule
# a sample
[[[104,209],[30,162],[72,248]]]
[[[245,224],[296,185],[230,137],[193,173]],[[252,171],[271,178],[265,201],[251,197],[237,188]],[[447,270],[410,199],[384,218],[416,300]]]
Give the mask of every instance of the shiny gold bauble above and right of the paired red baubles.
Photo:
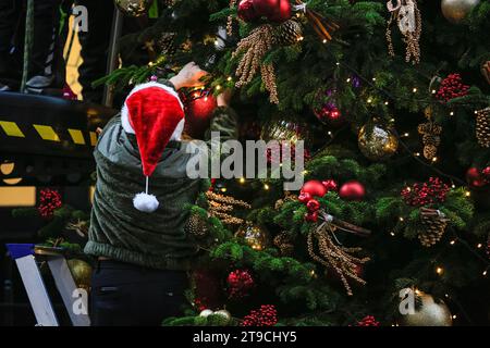
[[[387,160],[399,148],[399,139],[392,130],[381,125],[363,126],[357,140],[360,152],[372,161]]]

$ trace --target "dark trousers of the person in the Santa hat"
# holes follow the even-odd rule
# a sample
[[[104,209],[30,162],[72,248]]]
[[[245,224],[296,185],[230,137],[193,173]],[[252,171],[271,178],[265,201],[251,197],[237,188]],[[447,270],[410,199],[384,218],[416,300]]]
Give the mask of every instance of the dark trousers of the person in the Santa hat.
[[[187,274],[99,261],[90,293],[93,326],[157,326],[182,314]]]

